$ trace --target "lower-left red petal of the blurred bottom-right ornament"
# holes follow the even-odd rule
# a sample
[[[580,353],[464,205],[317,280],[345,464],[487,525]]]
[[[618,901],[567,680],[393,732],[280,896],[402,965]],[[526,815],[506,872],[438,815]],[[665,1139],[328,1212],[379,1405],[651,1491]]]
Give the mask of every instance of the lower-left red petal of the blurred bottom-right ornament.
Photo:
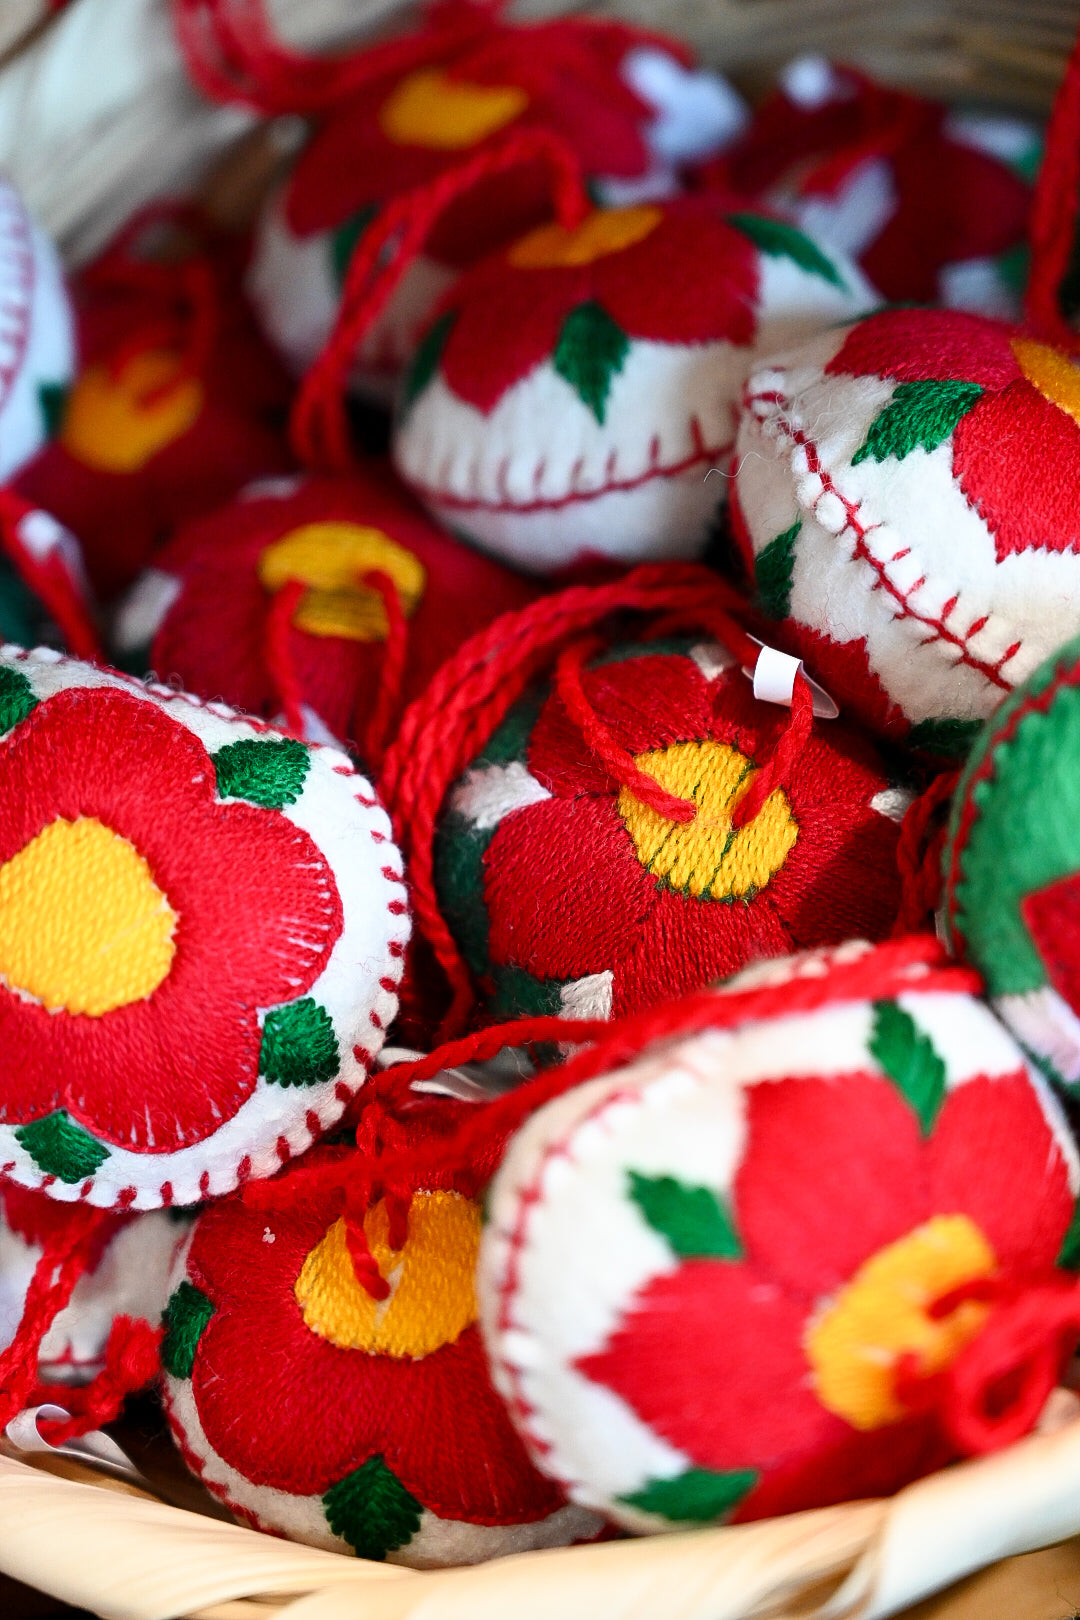
[[[832,1422],[810,1392],[803,1327],[803,1301],[756,1267],[687,1260],[578,1367],[698,1468],[767,1468],[813,1452]]]

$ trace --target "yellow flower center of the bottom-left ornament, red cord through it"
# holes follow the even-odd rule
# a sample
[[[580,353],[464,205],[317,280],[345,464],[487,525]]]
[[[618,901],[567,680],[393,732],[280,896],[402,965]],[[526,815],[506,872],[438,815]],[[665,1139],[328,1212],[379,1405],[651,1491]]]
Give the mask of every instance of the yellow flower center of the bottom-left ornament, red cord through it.
[[[390,1285],[372,1299],[356,1281],[345,1221],[330,1226],[296,1278],[304,1324],[340,1349],[381,1356],[429,1356],[476,1320],[479,1209],[457,1192],[416,1192],[402,1251],[390,1247],[385,1205],[364,1218],[368,1247]]]

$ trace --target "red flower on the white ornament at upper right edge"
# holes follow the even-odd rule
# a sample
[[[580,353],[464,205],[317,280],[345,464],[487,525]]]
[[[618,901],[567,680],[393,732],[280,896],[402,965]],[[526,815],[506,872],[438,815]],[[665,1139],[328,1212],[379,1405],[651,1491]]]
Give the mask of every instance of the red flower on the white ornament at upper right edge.
[[[827,373],[975,384],[952,433],[952,473],[997,561],[1080,548],[1080,368],[1067,355],[981,316],[895,309],[861,321]],[[1035,478],[1035,467],[1052,476]]]

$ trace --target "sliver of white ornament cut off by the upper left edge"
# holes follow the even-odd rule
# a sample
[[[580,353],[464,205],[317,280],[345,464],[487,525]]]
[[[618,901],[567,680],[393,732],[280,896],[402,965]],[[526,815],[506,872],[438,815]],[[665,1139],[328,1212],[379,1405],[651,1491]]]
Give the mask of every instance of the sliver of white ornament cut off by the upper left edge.
[[[74,369],[71,305],[57,249],[0,178],[0,480],[57,431]]]

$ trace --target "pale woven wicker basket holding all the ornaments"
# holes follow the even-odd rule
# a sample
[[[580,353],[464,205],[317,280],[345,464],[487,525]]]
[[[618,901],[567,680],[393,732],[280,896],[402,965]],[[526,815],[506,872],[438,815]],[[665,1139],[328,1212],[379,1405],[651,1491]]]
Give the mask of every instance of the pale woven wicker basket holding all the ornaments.
[[[275,0],[308,49],[406,0]],[[520,15],[565,5],[539,0]],[[857,60],[952,99],[1046,110],[1080,0],[612,0],[755,89],[792,55]],[[290,141],[186,87],[165,0],[0,0],[0,165],[70,259],[152,194],[198,185],[249,212]],[[1080,1609],[1080,1403],[994,1458],[889,1502],[416,1573],[222,1523],[191,1486],[149,1487],[0,1440],[0,1575],[117,1620],[1064,1620]],[[151,1471],[152,1473],[152,1471]],[[194,1502],[196,1511],[172,1505]],[[1078,1537],[1067,1541],[1067,1537]],[[1035,1557],[1031,1549],[1057,1545]],[[997,1560],[944,1599],[928,1594]],[[1074,1602],[1070,1602],[1070,1596]],[[5,1605],[0,1581],[0,1609]]]

